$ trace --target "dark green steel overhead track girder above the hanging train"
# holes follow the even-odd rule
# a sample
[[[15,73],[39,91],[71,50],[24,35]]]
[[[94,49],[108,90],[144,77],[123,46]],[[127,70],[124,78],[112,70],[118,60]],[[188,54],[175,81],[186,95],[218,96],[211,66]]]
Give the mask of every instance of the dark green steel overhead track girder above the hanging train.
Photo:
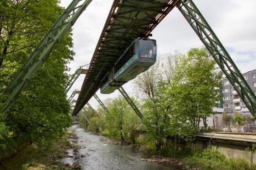
[[[84,107],[100,87],[131,42],[148,38],[152,30],[179,0],[114,0],[83,82],[73,115]]]

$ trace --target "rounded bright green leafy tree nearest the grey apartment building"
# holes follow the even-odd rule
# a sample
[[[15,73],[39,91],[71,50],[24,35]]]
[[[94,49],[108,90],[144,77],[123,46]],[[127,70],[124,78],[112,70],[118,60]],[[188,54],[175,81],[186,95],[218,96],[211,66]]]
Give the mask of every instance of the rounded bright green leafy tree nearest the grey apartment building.
[[[220,99],[222,72],[206,49],[190,49],[183,61],[184,75],[181,83],[177,85],[181,100],[179,106],[185,105],[188,121],[191,126],[198,129],[203,119],[207,127],[206,117],[214,114],[213,107],[218,105]]]

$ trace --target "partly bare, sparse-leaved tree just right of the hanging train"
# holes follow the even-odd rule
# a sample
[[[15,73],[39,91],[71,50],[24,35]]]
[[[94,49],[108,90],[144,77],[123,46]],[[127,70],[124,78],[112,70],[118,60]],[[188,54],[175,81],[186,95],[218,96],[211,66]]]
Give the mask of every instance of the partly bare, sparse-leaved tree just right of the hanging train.
[[[135,87],[142,92],[143,96],[146,96],[143,111],[146,134],[148,139],[155,142],[158,151],[169,145],[170,136],[178,134],[177,131],[181,127],[180,122],[182,121],[171,121],[174,118],[171,116],[172,104],[166,103],[169,101],[170,95],[166,94],[165,90],[171,82],[174,80],[179,82],[178,79],[181,79],[182,67],[178,67],[178,63],[182,57],[182,54],[176,52],[174,55],[168,55],[166,59],[162,58],[161,60],[165,60],[165,62],[157,61],[135,81]],[[175,61],[175,63],[171,61]]]

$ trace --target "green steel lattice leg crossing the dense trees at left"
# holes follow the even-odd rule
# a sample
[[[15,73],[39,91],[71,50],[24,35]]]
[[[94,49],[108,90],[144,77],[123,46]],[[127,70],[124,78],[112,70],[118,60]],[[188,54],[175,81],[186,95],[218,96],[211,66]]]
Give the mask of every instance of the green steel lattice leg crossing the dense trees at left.
[[[34,73],[47,60],[51,50],[63,38],[65,33],[74,25],[78,17],[92,0],[83,0],[81,5],[78,3],[82,0],[73,0],[63,14],[58,18],[57,22],[51,27],[50,31],[42,39],[40,44],[34,49],[28,60],[24,63],[20,71],[14,77],[12,82],[4,90],[4,94],[8,95],[6,104],[1,110],[5,113],[17,99],[23,88],[28,84],[28,81],[33,77]]]

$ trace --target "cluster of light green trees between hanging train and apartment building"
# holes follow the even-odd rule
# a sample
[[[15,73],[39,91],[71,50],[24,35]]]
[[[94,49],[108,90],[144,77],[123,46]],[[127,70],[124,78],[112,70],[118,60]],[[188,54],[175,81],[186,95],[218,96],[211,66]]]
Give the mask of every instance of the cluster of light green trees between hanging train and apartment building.
[[[135,86],[145,96],[143,124],[157,150],[168,146],[171,136],[193,139],[201,119],[207,126],[206,117],[218,105],[221,78],[206,49],[176,52],[138,76]]]

